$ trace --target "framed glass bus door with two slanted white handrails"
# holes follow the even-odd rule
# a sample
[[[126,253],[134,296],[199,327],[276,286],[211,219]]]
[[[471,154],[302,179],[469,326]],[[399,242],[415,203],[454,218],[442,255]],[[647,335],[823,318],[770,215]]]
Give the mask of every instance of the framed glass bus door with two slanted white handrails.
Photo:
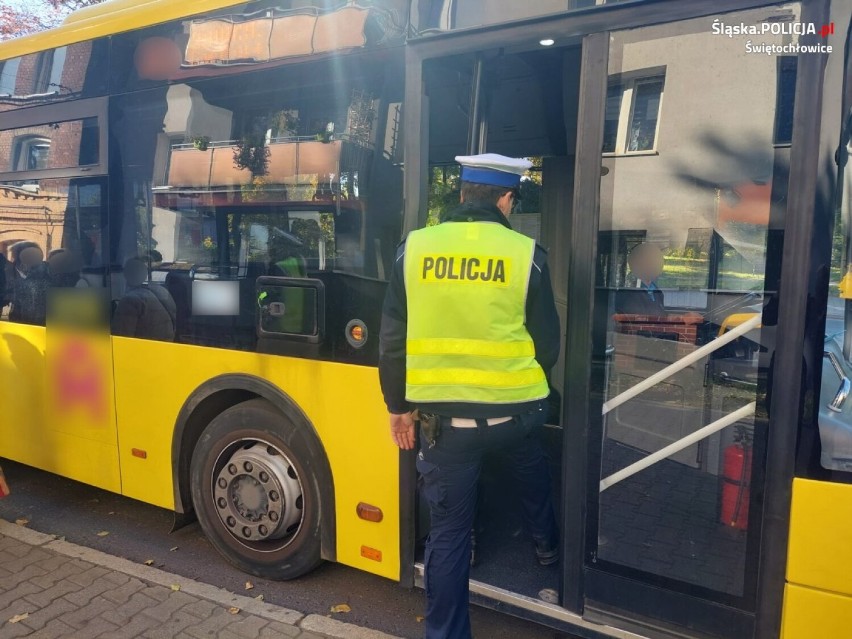
[[[773,25],[808,19],[788,3],[585,39],[563,478],[586,512],[565,515],[562,594],[586,620],[755,636],[802,64]]]

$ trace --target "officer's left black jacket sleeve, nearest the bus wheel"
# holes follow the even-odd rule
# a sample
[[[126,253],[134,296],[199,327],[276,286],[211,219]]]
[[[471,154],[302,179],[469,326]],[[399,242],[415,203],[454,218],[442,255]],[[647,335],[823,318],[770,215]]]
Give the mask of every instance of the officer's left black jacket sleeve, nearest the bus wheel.
[[[379,382],[385,404],[391,413],[407,413],[413,407],[405,401],[405,340],[408,328],[408,301],[403,266],[405,244],[397,250],[388,290],[382,306],[379,334]]]

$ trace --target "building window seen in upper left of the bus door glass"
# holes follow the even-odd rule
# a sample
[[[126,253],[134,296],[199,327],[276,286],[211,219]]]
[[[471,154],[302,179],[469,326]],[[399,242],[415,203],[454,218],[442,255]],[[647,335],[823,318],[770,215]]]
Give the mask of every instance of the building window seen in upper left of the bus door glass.
[[[656,149],[664,85],[664,75],[621,78],[610,83],[604,115],[604,153]]]

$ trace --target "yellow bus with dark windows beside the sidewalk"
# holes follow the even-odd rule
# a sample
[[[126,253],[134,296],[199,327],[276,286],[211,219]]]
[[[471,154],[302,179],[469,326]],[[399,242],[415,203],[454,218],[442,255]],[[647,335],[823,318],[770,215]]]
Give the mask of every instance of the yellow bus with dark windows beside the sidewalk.
[[[528,157],[561,561],[491,460],[473,597],[589,638],[847,636],[850,19],[110,0],[0,44],[0,456],[197,518],[251,574],[419,583],[386,279],[456,155]]]

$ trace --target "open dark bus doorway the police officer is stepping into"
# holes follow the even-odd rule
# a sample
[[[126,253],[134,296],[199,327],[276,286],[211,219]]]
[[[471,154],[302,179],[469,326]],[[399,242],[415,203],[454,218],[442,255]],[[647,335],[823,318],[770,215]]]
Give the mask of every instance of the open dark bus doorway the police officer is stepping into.
[[[529,158],[533,167],[522,178],[521,202],[510,223],[516,231],[552,249],[548,262],[564,334],[568,253],[560,250],[556,238],[565,236],[569,222],[564,212],[572,197],[580,40],[566,39],[549,48],[537,39],[524,40],[511,51],[442,55],[424,61],[422,72],[423,144],[428,146],[423,168],[428,193],[423,206],[426,219],[420,224],[436,224],[459,205],[456,156],[491,152]],[[563,370],[560,357],[552,371],[554,390],[543,436],[557,494]],[[507,463],[501,458],[487,460],[482,471],[471,592],[492,604],[509,599],[510,605],[527,611],[545,607],[550,614],[561,615],[565,611],[556,605],[559,570],[536,562],[532,540],[523,533],[520,500]],[[557,507],[558,501],[557,497]],[[420,511],[421,541],[428,533],[428,513],[424,511]]]

